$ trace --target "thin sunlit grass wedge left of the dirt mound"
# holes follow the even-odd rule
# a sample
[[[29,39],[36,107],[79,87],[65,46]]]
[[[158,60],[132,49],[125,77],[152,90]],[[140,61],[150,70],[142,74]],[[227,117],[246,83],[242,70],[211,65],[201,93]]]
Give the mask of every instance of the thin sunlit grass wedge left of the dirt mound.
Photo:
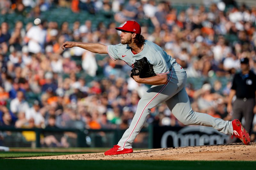
[[[0,159],[33,157],[33,156],[68,155],[68,154],[79,154],[79,153],[85,153],[85,152],[0,152]],[[86,153],[88,153],[88,152],[86,152]]]

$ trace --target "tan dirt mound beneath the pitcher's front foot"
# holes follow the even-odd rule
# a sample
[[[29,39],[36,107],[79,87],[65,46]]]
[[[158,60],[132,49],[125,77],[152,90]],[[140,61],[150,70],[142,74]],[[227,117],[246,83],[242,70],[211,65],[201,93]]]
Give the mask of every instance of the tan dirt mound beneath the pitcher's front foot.
[[[225,144],[190,146],[179,148],[136,150],[130,154],[105,156],[104,153],[87,153],[29,157],[18,159],[66,159],[66,160],[256,160],[256,144]]]

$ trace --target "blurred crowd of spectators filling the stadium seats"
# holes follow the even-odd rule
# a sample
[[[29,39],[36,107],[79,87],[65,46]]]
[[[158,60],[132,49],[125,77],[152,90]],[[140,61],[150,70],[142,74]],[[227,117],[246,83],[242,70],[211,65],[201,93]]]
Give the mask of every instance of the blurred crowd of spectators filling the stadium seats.
[[[195,111],[230,120],[229,80],[240,68],[239,59],[249,58],[256,72],[256,7],[214,2],[184,9],[153,0],[0,1],[1,16],[34,19],[61,7],[78,14],[101,13],[109,21],[93,26],[94,20],[84,18],[60,25],[44,18],[38,26],[20,20],[12,28],[12,21],[0,23],[0,126],[128,128],[149,86],[133,81],[131,68],[108,55],[60,48],[65,41],[118,44],[115,27],[126,20],[138,21],[141,34],[175,58],[188,78],[217,78],[199,88],[188,83],[186,89]],[[151,109],[147,123],[183,126],[164,103]]]

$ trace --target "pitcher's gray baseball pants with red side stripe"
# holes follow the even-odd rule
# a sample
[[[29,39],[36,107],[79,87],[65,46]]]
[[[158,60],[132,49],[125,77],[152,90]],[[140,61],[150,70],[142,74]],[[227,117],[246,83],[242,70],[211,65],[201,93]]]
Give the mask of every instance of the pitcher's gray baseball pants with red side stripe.
[[[233,134],[232,122],[192,110],[184,87],[186,81],[186,72],[179,64],[174,63],[168,74],[168,83],[166,85],[151,86],[140,99],[131,125],[124,132],[123,137],[118,142],[118,146],[132,148],[132,143],[146,122],[150,109],[164,101],[172,111],[172,114],[184,125],[209,126],[222,133]]]

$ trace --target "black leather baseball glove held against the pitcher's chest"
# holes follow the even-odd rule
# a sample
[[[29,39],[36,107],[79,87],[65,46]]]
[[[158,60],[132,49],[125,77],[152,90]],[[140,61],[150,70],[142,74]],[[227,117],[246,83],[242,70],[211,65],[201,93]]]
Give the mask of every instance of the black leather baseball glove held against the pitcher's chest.
[[[154,72],[153,65],[148,62],[148,59],[146,57],[143,57],[140,60],[135,61],[134,67],[132,68],[131,71],[131,77],[132,76],[140,76],[140,78],[147,78],[156,76],[156,73]]]

